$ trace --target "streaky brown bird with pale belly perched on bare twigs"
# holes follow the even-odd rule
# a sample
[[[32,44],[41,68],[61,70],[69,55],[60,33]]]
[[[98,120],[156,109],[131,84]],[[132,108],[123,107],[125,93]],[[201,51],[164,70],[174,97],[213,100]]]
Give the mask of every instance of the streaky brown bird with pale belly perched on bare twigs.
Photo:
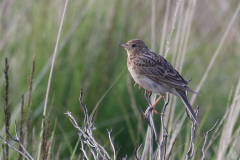
[[[197,95],[199,93],[189,87],[188,81],[174,69],[167,59],[149,50],[139,39],[132,39],[119,46],[127,50],[127,67],[136,84],[140,85],[139,88],[143,87],[146,91],[160,95],[149,109],[155,110],[156,104],[168,92],[180,98],[195,123],[200,123],[187,97],[188,91]],[[149,109],[146,110],[145,115]]]

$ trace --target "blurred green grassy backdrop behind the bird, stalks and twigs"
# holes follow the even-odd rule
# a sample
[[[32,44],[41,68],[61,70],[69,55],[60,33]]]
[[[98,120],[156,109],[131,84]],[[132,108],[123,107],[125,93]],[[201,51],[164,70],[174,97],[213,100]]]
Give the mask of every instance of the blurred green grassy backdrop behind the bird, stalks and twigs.
[[[181,41],[186,41],[186,33],[183,30],[184,22],[187,16],[193,16],[181,71],[184,78],[193,79],[190,82],[192,89],[196,89],[206,71],[238,2],[237,0],[197,1],[193,14],[189,12],[187,15],[187,9],[192,1],[182,0],[167,59],[172,62],[174,47],[180,48]],[[0,2],[0,70],[3,71],[4,58],[8,57],[10,65],[9,96],[12,111],[19,107],[21,94],[28,91],[31,63],[33,56],[36,55],[31,128],[35,127],[38,135],[41,129],[50,63],[64,3],[63,0],[3,0]],[[63,113],[72,112],[79,124],[82,124],[84,114],[79,105],[80,89],[83,88],[83,102],[87,104],[89,113],[91,113],[118,76],[120,77],[101,100],[94,115],[97,128],[94,131],[95,137],[100,144],[106,144],[110,150],[106,129],[112,128],[115,146],[120,149],[118,157],[124,157],[126,154],[133,155],[136,142],[143,142],[147,122],[140,115],[140,106],[145,110],[147,101],[142,94],[144,90],[139,91],[138,86],[133,87],[134,82],[126,69],[126,51],[118,45],[137,38],[143,40],[149,48],[151,43],[154,43],[155,48],[152,50],[159,53],[163,32],[166,34],[164,38],[166,42],[176,9],[175,0],[169,3],[167,27],[166,31],[163,31],[167,1],[156,2],[154,42],[151,40],[151,1],[69,1],[48,101],[49,110],[55,93],[50,113],[50,126],[53,128],[57,119],[54,153],[56,154],[58,146],[62,143],[61,159],[68,159],[67,157],[71,155],[78,139],[76,129]],[[201,96],[196,98],[193,105],[193,108],[196,108],[196,105],[200,106],[200,119],[207,122],[198,131],[197,137],[201,142],[204,140],[203,130],[208,130],[218,118],[223,117],[231,87],[235,88],[238,82],[240,75],[239,28],[240,17],[238,14],[199,91]],[[177,37],[179,43],[176,43]],[[177,50],[176,54],[179,51],[182,52],[181,48]],[[176,62],[173,62],[173,65],[176,66]],[[123,73],[121,74],[121,72]],[[4,82],[2,72],[0,73],[1,95],[4,94]],[[129,87],[133,91],[133,96]],[[189,97],[191,96],[190,93]],[[25,94],[25,98],[27,98],[27,94]],[[131,107],[134,105],[134,101],[137,111]],[[1,96],[1,131],[4,127],[3,103],[3,96]],[[26,104],[27,101],[25,101],[25,108]],[[158,111],[161,111],[162,104],[163,102],[156,107]],[[183,103],[177,100],[176,117],[184,109]],[[139,116],[136,117],[134,112]],[[157,116],[155,118],[160,123],[160,118]],[[12,117],[11,120],[11,132],[13,132],[13,121],[18,121],[19,115]],[[181,154],[186,145],[181,137],[185,136],[190,123],[185,122],[175,146],[176,154]],[[157,127],[160,128],[160,126]],[[77,154],[80,153],[81,151],[78,149]],[[197,149],[196,154],[201,154],[201,151]]]

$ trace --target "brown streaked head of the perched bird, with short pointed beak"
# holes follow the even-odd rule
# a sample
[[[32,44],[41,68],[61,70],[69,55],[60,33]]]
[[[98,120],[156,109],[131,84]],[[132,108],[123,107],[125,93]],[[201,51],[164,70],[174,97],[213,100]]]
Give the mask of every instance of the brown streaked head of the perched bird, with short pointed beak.
[[[127,50],[128,56],[141,54],[146,50],[148,50],[148,47],[146,46],[146,44],[139,39],[132,39],[128,41],[126,44],[120,44],[119,46]]]

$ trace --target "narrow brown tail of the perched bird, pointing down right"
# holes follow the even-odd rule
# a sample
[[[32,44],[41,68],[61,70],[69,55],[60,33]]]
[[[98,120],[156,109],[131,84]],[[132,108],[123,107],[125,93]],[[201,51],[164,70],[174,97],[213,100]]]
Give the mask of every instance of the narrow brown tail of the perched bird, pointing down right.
[[[186,106],[187,110],[189,111],[191,117],[195,120],[195,122],[197,124],[199,124],[200,121],[199,121],[198,117],[196,116],[194,110],[192,109],[191,104],[188,101],[188,97],[187,97],[186,91],[181,90],[181,89],[176,89],[176,90],[179,93],[179,96],[180,96],[181,100],[183,101],[184,105]]]

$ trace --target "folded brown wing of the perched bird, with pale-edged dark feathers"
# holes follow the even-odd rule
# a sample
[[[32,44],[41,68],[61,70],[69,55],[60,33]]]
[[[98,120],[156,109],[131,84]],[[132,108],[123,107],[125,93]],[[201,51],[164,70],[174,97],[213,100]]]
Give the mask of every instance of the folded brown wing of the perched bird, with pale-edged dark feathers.
[[[145,75],[156,82],[165,83],[170,87],[198,94],[190,89],[188,82],[159,54],[152,51],[146,51],[144,54],[135,56],[135,58],[132,58],[135,65],[133,68],[138,74]]]

